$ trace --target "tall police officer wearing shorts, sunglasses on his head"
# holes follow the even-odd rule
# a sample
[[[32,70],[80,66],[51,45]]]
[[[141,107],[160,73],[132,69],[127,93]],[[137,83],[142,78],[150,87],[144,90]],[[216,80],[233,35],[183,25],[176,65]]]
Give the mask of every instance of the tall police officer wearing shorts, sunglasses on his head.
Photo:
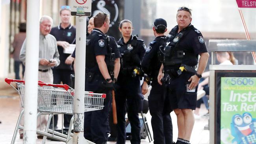
[[[193,110],[197,101],[197,85],[206,67],[209,54],[202,34],[191,25],[191,9],[180,7],[176,21],[178,25],[167,36],[167,46],[164,48],[165,56],[158,74],[158,83],[169,84],[171,107],[177,115],[178,122],[176,144],[190,144],[189,140],[195,123]],[[198,55],[200,55],[199,63]],[[198,69],[195,71],[197,63]]]

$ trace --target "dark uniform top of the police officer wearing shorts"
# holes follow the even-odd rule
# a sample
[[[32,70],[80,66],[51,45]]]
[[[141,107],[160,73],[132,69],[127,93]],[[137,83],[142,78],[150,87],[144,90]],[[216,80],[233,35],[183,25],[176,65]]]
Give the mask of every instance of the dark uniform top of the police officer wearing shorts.
[[[194,28],[193,25],[189,24],[187,28],[184,28],[180,33],[184,33],[182,38],[176,43],[174,49],[183,50],[185,56],[182,60],[182,64],[195,66],[198,63],[198,54],[208,52],[206,48],[206,44],[204,42],[204,38],[199,30]],[[176,37],[178,36],[178,26],[175,26],[169,33],[169,35],[174,35],[171,41],[175,42]],[[168,35],[168,36],[169,36]],[[167,38],[168,39],[168,38]],[[170,45],[170,44],[169,44]],[[190,55],[191,57],[187,57]]]

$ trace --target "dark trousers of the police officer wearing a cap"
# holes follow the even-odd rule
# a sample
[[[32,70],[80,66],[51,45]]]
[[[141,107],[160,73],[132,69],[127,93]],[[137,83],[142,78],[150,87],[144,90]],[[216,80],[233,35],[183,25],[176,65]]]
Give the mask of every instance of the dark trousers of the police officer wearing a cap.
[[[154,144],[171,144],[173,142],[173,124],[171,105],[164,89],[159,84],[152,86],[148,96]]]

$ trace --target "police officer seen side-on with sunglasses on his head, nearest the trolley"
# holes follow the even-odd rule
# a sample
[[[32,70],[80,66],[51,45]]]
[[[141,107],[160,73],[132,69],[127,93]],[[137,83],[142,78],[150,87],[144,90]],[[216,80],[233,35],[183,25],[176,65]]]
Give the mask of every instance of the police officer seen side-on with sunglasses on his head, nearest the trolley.
[[[109,46],[111,37],[105,35],[108,32],[109,23],[109,16],[106,13],[98,13],[94,18],[95,29],[86,40],[85,90],[107,94],[102,110],[85,113],[84,137],[96,144],[107,143],[105,136],[111,103],[110,93],[113,89],[113,80],[117,79],[120,69],[121,55],[117,45],[111,48]]]

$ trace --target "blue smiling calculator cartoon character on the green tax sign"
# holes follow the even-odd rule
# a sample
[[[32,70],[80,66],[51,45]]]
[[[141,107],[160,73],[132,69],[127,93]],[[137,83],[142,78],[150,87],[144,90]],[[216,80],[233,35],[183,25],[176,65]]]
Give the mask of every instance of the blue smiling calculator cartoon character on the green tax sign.
[[[256,144],[256,119],[250,113],[232,117],[231,134],[233,144]]]

